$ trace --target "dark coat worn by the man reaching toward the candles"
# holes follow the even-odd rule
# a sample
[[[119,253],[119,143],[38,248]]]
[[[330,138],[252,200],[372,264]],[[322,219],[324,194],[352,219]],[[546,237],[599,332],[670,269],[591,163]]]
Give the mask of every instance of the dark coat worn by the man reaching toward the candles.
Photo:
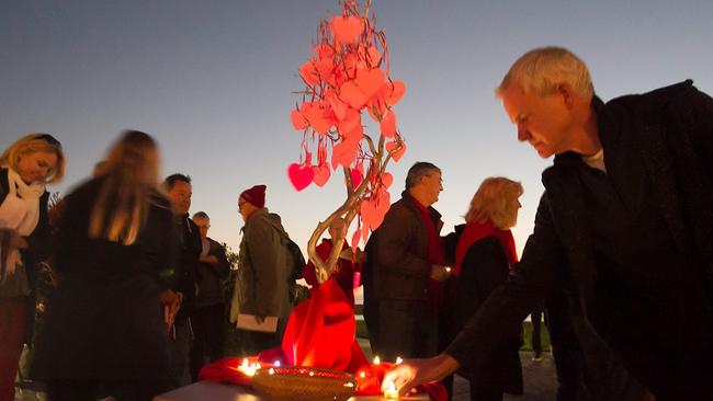
[[[480,356],[497,347],[498,333],[518,326],[553,288],[567,289],[576,299],[575,325],[593,328],[657,398],[708,397],[713,382],[713,100],[687,81],[606,105],[595,99],[592,106],[608,175],[631,185],[648,183],[653,196],[647,200],[660,210],[680,257],[675,264],[653,261],[652,270],[695,283],[678,299],[654,291],[647,297],[655,305],[688,302],[703,311],[691,311],[688,322],[679,316],[672,328],[661,328],[652,324],[657,307],[641,302],[633,291],[612,291],[634,285],[646,288],[647,279],[633,283],[625,274],[602,276],[611,270],[592,250],[596,232],[586,215],[577,170],[581,162],[577,154],[565,153],[543,173],[546,191],[516,273],[493,293],[446,353],[483,369]],[[609,171],[609,165],[615,171]],[[632,247],[647,240],[646,236],[632,238]],[[621,273],[629,273],[627,268]],[[648,335],[634,339],[632,330]],[[671,335],[660,335],[664,330]]]

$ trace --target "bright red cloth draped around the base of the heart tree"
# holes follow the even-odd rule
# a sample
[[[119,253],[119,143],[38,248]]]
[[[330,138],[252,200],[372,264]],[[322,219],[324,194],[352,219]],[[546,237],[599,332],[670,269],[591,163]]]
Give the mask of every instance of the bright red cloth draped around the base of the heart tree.
[[[355,375],[356,394],[381,394],[384,373],[393,365],[370,364],[356,341],[354,310],[339,284],[331,277],[317,289],[312,298],[297,305],[290,316],[282,346],[265,350],[250,363],[262,367],[281,365],[314,366],[342,370]],[[225,358],[201,369],[200,380],[213,380],[251,387],[249,376],[238,370],[245,358]],[[431,399],[445,401],[448,392],[441,383],[420,386]]]

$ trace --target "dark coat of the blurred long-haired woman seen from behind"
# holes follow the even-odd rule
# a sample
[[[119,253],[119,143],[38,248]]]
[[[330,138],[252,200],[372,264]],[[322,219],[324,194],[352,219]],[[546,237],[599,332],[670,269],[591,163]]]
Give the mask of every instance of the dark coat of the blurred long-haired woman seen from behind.
[[[58,287],[48,301],[37,344],[35,377],[90,380],[167,380],[169,348],[159,293],[171,271],[172,213],[156,195],[136,242],[90,239],[89,218],[102,179],[68,198],[56,262]]]

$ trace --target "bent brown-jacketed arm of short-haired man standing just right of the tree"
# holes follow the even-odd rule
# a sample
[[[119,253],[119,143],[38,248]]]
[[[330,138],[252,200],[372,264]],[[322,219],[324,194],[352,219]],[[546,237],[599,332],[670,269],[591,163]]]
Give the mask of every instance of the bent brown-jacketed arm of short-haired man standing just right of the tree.
[[[386,214],[378,229],[376,252],[380,263],[389,270],[409,276],[428,277],[431,264],[410,251],[414,237],[418,234],[411,214],[405,207],[394,208]]]

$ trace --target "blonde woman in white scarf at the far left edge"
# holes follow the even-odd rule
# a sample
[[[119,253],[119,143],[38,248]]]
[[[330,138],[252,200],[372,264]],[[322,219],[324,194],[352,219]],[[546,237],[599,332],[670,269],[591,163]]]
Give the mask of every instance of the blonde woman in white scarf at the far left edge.
[[[0,156],[0,401],[14,400],[18,360],[34,317],[36,266],[49,253],[45,185],[65,156],[49,134],[30,134]]]

